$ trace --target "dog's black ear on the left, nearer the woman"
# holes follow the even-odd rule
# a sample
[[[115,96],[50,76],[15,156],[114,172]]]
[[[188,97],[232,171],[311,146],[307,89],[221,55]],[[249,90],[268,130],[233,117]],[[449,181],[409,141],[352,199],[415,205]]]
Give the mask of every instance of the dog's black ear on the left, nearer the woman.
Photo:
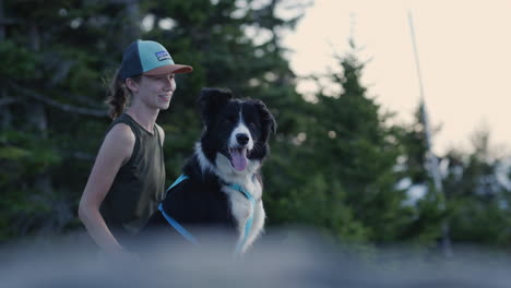
[[[202,88],[201,96],[199,97],[199,106],[204,124],[209,123],[211,118],[230,99],[233,99],[233,93],[227,88]]]

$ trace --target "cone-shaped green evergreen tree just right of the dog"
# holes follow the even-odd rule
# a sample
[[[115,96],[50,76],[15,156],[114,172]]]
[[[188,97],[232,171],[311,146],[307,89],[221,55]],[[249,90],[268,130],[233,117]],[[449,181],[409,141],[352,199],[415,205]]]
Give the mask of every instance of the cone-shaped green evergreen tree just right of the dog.
[[[282,221],[323,227],[341,241],[396,241],[412,220],[402,205],[404,191],[395,188],[400,130],[385,123],[379,105],[366,95],[364,64],[353,53],[338,60],[343,72],[333,81],[342,93],[319,94],[310,104],[290,168],[302,173],[289,172],[295,189],[280,199],[283,207],[276,211]]]

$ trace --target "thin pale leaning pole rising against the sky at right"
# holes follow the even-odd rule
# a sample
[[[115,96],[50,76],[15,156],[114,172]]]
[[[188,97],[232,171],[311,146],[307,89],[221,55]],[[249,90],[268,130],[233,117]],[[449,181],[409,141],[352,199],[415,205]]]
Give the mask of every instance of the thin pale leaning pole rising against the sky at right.
[[[437,192],[440,194],[440,209],[444,211],[445,209],[445,195],[443,194],[443,187],[442,187],[442,180],[440,176],[440,170],[439,170],[439,163],[438,158],[435,156],[432,153],[432,144],[431,144],[431,130],[429,127],[429,119],[428,119],[428,111],[426,109],[426,100],[425,100],[425,94],[424,94],[424,84],[423,84],[423,75],[420,73],[420,65],[419,65],[419,59],[418,59],[418,52],[417,52],[417,44],[415,41],[415,29],[414,29],[414,22],[412,19],[412,12],[408,11],[408,22],[409,22],[409,32],[411,32],[411,37],[412,37],[412,46],[414,49],[414,57],[415,57],[415,65],[417,68],[417,77],[418,77],[418,83],[419,83],[419,93],[420,93],[420,116],[421,116],[421,121],[425,128],[425,135],[426,135],[426,149],[427,149],[427,163],[428,167],[427,169],[431,173],[433,183],[435,183],[435,189]],[[443,254],[445,256],[452,256],[452,248],[451,248],[451,240],[449,237],[449,223],[447,220],[442,221],[442,242],[441,247],[443,250]]]

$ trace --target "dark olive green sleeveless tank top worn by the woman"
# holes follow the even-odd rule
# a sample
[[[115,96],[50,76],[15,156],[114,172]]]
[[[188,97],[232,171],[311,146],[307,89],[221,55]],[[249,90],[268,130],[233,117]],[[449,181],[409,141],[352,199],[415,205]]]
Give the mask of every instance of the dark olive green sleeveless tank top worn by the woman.
[[[120,167],[100,206],[100,214],[116,237],[136,233],[157,209],[164,196],[165,164],[161,135],[142,128],[127,113],[120,115],[108,131],[118,123],[131,128],[135,136],[130,159]]]

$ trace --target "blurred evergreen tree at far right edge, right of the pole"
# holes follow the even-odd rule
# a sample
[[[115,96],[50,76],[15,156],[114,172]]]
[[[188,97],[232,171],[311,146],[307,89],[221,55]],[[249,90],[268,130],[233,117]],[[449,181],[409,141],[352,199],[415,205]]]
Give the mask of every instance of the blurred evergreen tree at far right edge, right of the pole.
[[[444,182],[453,206],[452,239],[463,244],[509,248],[511,189],[499,180],[507,178],[506,171],[500,170],[504,166],[491,153],[488,131],[474,133],[473,149],[468,155],[456,151],[448,154],[449,173]]]

